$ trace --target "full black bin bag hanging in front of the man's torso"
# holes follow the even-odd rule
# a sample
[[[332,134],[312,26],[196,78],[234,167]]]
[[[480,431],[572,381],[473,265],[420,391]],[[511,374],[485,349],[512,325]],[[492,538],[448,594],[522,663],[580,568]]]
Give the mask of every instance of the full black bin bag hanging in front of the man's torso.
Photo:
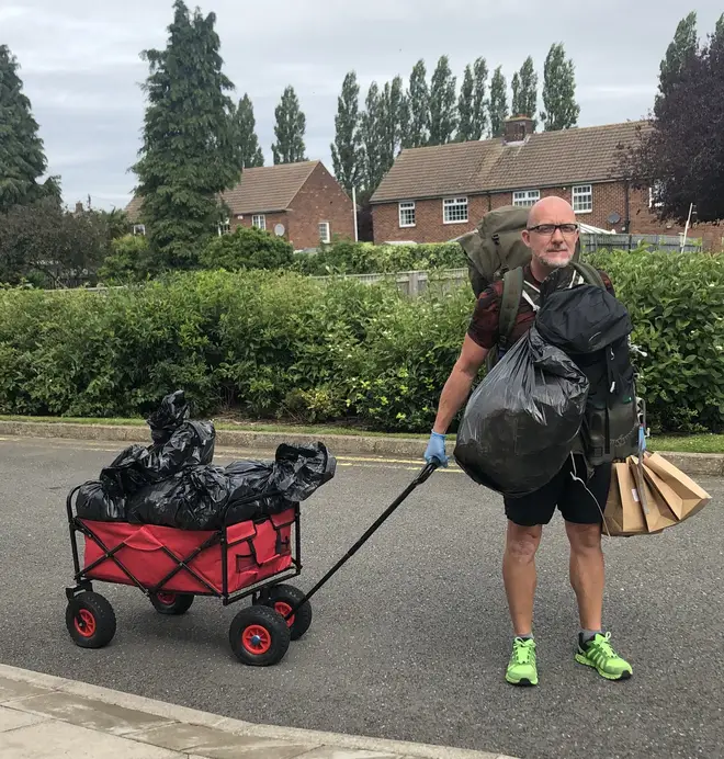
[[[455,461],[473,480],[504,496],[533,492],[570,455],[587,394],[586,375],[532,327],[471,396]]]

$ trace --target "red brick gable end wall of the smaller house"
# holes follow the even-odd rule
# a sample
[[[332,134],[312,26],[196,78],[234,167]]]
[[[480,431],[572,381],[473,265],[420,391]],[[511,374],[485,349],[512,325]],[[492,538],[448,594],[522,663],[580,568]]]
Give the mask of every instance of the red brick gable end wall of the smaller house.
[[[319,246],[319,222],[329,222],[331,239],[354,239],[352,201],[319,163],[292,201],[290,239],[295,249]]]

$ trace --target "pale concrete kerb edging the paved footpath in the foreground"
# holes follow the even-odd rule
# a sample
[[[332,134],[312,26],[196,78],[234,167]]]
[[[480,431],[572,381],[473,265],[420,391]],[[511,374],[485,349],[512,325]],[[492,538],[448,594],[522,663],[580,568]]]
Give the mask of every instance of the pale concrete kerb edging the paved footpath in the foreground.
[[[178,723],[179,725],[196,725],[225,733],[249,736],[253,738],[270,739],[306,746],[309,749],[317,747],[330,747],[337,749],[359,750],[374,752],[376,756],[420,757],[429,759],[514,759],[501,754],[477,751],[429,744],[415,744],[403,740],[387,740],[370,738],[365,736],[344,735],[340,733],[325,733],[295,727],[278,727],[274,725],[258,725],[231,717],[223,717],[217,714],[201,712],[185,706],[146,699],[140,695],[123,693],[121,691],[101,688],[77,680],[19,669],[0,664],[0,678],[7,678],[15,682],[48,691],[67,693],[70,695],[112,704],[126,710],[133,710],[146,715],[160,717]],[[92,707],[92,704],[89,704]],[[126,734],[133,738],[133,733]],[[363,755],[364,756],[364,755]]]

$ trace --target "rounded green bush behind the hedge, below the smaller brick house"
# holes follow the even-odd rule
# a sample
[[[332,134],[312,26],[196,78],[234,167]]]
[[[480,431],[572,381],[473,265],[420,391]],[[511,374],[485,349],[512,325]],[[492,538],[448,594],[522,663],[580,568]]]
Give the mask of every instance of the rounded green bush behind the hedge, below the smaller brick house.
[[[230,235],[212,239],[202,251],[203,269],[285,269],[292,263],[294,248],[282,237],[256,227],[237,227]]]

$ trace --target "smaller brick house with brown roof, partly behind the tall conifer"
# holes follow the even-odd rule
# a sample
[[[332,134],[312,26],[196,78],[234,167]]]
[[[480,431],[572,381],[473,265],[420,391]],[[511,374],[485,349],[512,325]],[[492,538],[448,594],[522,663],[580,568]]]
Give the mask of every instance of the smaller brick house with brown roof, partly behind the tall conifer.
[[[352,201],[321,161],[245,169],[239,184],[222,199],[230,215],[220,231],[254,226],[286,238],[295,250],[314,249],[335,237],[354,239]],[[139,208],[140,199],[134,197],[126,207],[132,224],[138,222]]]

